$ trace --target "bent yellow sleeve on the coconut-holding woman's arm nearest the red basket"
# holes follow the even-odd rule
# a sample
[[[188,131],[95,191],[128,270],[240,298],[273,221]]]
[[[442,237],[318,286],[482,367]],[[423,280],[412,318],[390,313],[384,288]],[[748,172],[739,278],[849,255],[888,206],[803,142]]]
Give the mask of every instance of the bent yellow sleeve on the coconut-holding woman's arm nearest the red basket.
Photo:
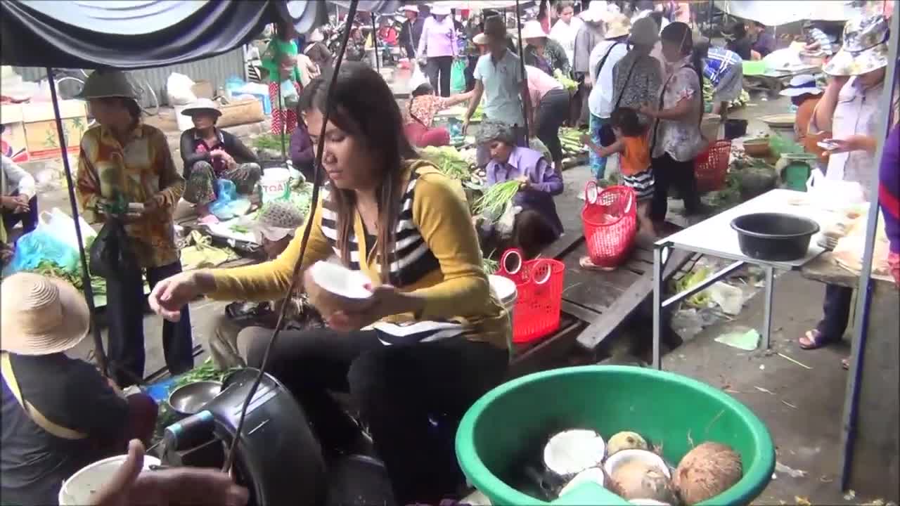
[[[440,264],[444,280],[413,292],[425,300],[419,319],[484,312],[491,300],[482,249],[462,187],[438,172],[419,176],[412,219]]]

